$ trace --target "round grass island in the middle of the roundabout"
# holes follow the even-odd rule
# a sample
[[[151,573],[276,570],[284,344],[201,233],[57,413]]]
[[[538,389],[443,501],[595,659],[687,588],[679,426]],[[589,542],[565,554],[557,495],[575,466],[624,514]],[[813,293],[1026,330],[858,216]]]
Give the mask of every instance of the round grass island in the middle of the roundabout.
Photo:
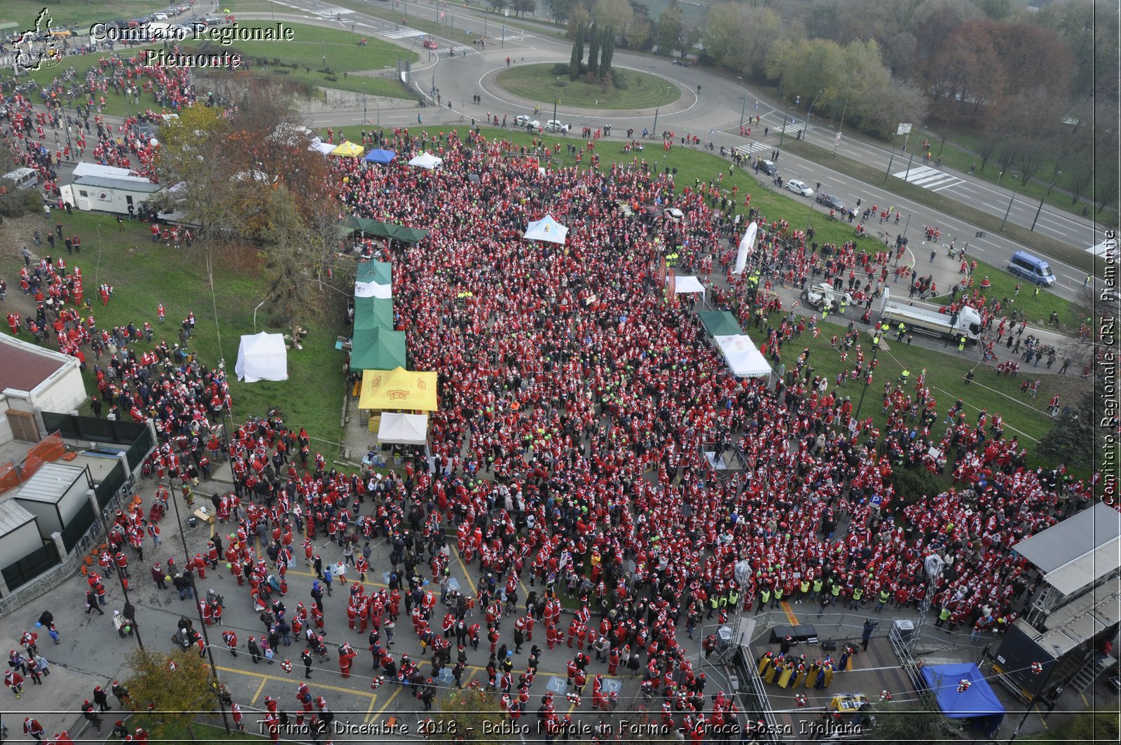
[[[557,75],[552,64],[512,65],[501,71],[494,82],[513,95],[539,102],[541,116],[552,111],[554,96],[565,107],[578,109],[650,109],[659,101],[665,105],[682,98],[682,89],[664,77],[636,70],[620,72],[627,88],[606,91],[583,77],[572,81],[567,75]]]

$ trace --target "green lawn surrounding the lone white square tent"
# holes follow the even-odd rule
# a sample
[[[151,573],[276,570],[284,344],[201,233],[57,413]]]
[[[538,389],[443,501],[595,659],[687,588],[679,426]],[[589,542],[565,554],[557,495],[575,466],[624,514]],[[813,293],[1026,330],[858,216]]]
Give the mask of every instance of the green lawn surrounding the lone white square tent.
[[[257,251],[214,247],[212,300],[205,252],[198,245],[176,250],[152,243],[145,224],[126,223],[126,230],[120,232],[117,218],[112,215],[75,211],[67,217],[57,210],[54,215],[62,221],[64,234],[76,233],[82,238],[82,255],[67,259],[73,259],[72,264],[82,268],[86,297],[94,304],[99,328],[111,329],[129,322],[141,326],[145,321],[155,325],[156,306],[163,303],[167,323],[163,328],[156,326],[157,332],[164,332],[157,333],[156,339],[164,338],[173,344],[178,341],[179,324],[193,311],[197,324],[188,348],[197,352],[200,360],[207,366],[217,365],[219,359],[224,357],[231,379],[235,421],[265,415],[276,406],[285,413],[289,424],[306,426],[313,438],[339,442],[344,357],[334,344],[336,335],[349,333],[349,329],[340,323],[344,313],[340,298],[345,294],[322,293],[327,305],[317,320],[303,322],[309,333],[303,350],[288,352],[287,381],[238,383],[233,379],[233,366],[238,359],[239,337],[253,333],[253,309],[268,294]],[[98,286],[103,282],[112,284],[115,289],[108,306],[102,306],[96,296]],[[336,285],[342,293],[349,289],[342,279],[336,279]],[[272,324],[263,307],[257,313],[257,330],[287,332],[287,329]],[[106,361],[102,358],[102,362]],[[89,385],[93,379],[93,365],[96,364],[93,355],[89,356],[87,362],[87,389],[95,390]],[[328,460],[337,454],[337,450],[324,443],[314,449],[322,451]]]

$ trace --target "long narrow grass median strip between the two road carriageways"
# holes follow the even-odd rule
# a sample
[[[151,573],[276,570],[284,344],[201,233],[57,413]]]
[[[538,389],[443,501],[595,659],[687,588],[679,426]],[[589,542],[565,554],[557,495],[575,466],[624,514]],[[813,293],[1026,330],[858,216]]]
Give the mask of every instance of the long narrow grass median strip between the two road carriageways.
[[[787,138],[782,148],[794,153],[795,155],[799,155],[804,158],[813,160],[814,163],[828,166],[830,168],[834,168],[835,171],[840,171],[841,173],[847,174],[869,184],[884,183],[883,172],[879,168],[873,168],[841,155],[833,157],[832,153],[827,148],[812,145],[809,142],[798,141],[793,137]],[[890,194],[898,194],[899,196],[926,204],[934,210],[953,215],[971,226],[976,226],[981,230],[986,230],[993,233],[1000,232],[1000,223],[1002,222],[1000,215],[982,212],[981,210],[962,204],[961,202],[948,196],[943,196],[942,194],[932,192],[928,188],[910,184],[902,178],[896,178],[895,176],[889,177],[884,188]],[[1105,263],[1101,258],[1095,258],[1093,255],[1087,254],[1084,250],[1064,243],[1059,240],[1055,240],[1054,238],[1041,236],[1037,232],[1028,230],[1027,228],[1015,226],[1012,223],[1008,223],[1004,227],[1004,232],[1002,234],[1009,240],[1021,243],[1025,248],[1035,249],[1034,252],[1036,254],[1044,254],[1046,256],[1060,259],[1071,266],[1078,267],[1083,272],[1094,272],[1099,276],[1104,274]],[[964,239],[965,237],[960,236],[958,238]]]

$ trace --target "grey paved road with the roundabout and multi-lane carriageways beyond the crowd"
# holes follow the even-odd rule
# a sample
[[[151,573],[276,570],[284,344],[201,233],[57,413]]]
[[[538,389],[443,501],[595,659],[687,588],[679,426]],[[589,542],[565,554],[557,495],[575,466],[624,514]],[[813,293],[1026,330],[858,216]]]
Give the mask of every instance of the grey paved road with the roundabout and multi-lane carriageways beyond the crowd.
[[[289,19],[296,15],[308,19],[327,20],[337,24],[341,28],[350,29],[353,27],[360,33],[379,35],[387,40],[421,53],[421,61],[413,68],[413,81],[417,95],[428,95],[432,89],[436,88],[439,89],[442,100],[445,103],[447,99],[453,101],[452,111],[448,111],[446,107],[443,110],[426,109],[424,111],[426,123],[457,122],[461,113],[481,122],[488,111],[504,113],[512,118],[518,113],[531,113],[535,103],[543,108],[538,118],[548,118],[546,114],[552,116],[552,112],[547,111],[549,101],[543,99],[535,102],[512,96],[494,85],[493,77],[500,70],[506,68],[507,56],[512,57],[515,64],[522,62],[528,64],[567,62],[569,55],[567,44],[541,34],[507,27],[506,34],[502,36],[502,28],[494,22],[493,16],[484,20],[478,11],[463,8],[450,9],[447,12],[452,13],[453,17],[451,19],[445,17],[444,22],[478,36],[483,35],[485,25],[487,38],[490,44],[480,50],[475,45],[457,43],[454,45],[456,56],[448,57],[446,50],[450,47],[450,42],[447,38],[441,38],[437,35],[436,40],[439,48],[435,54],[429,54],[420,46],[423,38],[427,35],[408,26],[409,18],[420,18],[426,21],[436,20],[438,11],[425,2],[408,3],[405,9],[407,15],[402,16],[405,24],[386,21],[317,0],[284,0],[282,2],[277,0],[277,4],[286,7],[286,15]],[[378,7],[385,9],[388,6],[379,4]],[[337,19],[335,18],[336,13],[340,13]],[[254,15],[254,17],[268,18],[269,16],[262,13]],[[638,70],[666,79],[670,85],[680,90],[680,98],[673,104],[661,107],[658,111],[655,109],[597,111],[559,105],[558,118],[563,121],[571,121],[576,127],[585,125],[600,127],[611,123],[618,134],[627,127],[633,127],[637,131],[641,131],[643,128],[652,130],[657,114],[659,131],[668,129],[678,135],[691,132],[701,137],[702,140],[714,141],[717,147],[721,145],[728,147],[744,146],[753,153],[769,154],[775,148],[781,150],[778,145],[778,130],[782,127],[785,112],[760,99],[749,89],[741,88],[736,81],[725,80],[701,68],[675,66],[665,58],[628,54],[623,50],[617,52],[614,64],[622,68]],[[697,92],[698,85],[702,86],[700,93]],[[482,102],[479,105],[467,103],[474,93],[482,96]],[[788,120],[788,134],[794,135],[798,129],[805,127],[804,107],[807,103],[804,99],[803,109],[795,112],[793,121],[796,123],[789,123],[790,120]],[[761,119],[760,123],[752,127],[751,138],[739,136],[741,111],[758,114]],[[380,112],[379,117],[383,125],[408,125],[415,121],[416,113],[398,110]],[[312,123],[325,127],[327,125],[359,123],[361,119],[361,111],[332,112],[313,117]],[[758,137],[765,127],[772,130],[770,136],[767,138]],[[810,125],[806,134],[807,141],[827,148],[833,147],[834,138],[835,132],[832,129],[816,123]],[[843,137],[837,153],[883,168],[884,173],[889,171],[890,163],[892,174],[907,177],[912,183],[993,215],[1002,218],[1011,203],[1008,220],[1013,224],[1029,227],[1039,206],[1038,202],[1025,201],[1019,196],[1013,200],[1012,192],[1003,186],[998,187],[966,174],[938,171],[924,165],[920,160],[911,163],[908,168],[908,153],[897,151],[892,155],[883,146],[861,138]],[[897,210],[902,212],[905,220],[910,218],[912,227],[908,228],[909,237],[914,234],[910,230],[916,228],[921,230],[925,224],[938,226],[944,236],[954,237],[958,245],[969,242],[971,252],[979,259],[998,266],[1003,266],[1011,254],[1021,248],[1013,241],[992,232],[988,232],[984,238],[976,239],[974,237],[978,231],[975,227],[923,204],[890,195],[880,184],[860,182],[787,153],[781,153],[779,165],[780,172],[786,178],[798,177],[810,183],[821,181],[823,190],[836,193],[850,203],[861,199],[863,203],[896,205]],[[1103,239],[1102,232],[1095,229],[1091,220],[1056,211],[1046,205],[1039,215],[1037,231],[1081,249],[1088,249]],[[1056,292],[1068,300],[1073,298],[1077,289],[1081,288],[1085,273],[1056,260],[1054,257],[1048,258],[1062,285],[1056,287]]]

